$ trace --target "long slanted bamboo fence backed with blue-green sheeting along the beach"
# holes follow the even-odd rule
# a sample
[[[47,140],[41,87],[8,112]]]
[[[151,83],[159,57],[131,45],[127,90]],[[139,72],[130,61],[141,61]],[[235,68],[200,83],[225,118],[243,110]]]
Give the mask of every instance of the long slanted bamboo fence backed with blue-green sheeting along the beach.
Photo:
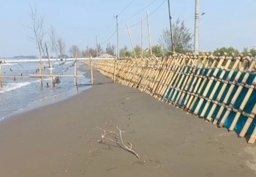
[[[115,82],[134,87],[193,115],[256,140],[255,59],[212,54],[92,60]]]

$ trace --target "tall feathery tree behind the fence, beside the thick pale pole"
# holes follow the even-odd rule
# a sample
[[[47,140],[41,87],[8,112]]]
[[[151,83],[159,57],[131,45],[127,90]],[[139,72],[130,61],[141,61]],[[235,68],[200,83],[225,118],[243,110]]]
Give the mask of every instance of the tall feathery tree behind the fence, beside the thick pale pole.
[[[189,28],[185,26],[185,22],[181,22],[180,19],[178,19],[172,24],[172,29],[175,52],[184,53],[190,50],[192,47],[192,34],[189,32]],[[170,29],[163,29],[163,34],[159,38],[159,43],[165,50],[172,50]]]

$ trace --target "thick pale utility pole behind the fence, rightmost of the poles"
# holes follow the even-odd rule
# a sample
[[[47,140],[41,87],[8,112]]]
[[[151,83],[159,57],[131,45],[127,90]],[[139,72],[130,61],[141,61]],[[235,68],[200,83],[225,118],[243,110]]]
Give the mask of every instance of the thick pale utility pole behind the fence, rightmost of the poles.
[[[194,41],[194,54],[197,55],[199,52],[199,6],[200,0],[196,0],[195,8],[195,41]]]

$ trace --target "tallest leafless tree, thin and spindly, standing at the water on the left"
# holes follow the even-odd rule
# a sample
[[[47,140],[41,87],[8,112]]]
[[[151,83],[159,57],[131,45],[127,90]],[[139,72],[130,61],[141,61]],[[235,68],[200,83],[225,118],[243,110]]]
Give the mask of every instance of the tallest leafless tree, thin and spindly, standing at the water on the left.
[[[31,26],[28,26],[29,29],[33,31],[33,36],[30,36],[29,38],[31,41],[33,41],[36,44],[36,48],[39,50],[40,55],[45,55],[44,46],[43,46],[43,37],[44,37],[44,31],[43,31],[43,23],[44,23],[44,17],[42,17],[37,10],[36,5],[34,7],[29,4],[30,7],[30,14],[29,17],[32,21]]]

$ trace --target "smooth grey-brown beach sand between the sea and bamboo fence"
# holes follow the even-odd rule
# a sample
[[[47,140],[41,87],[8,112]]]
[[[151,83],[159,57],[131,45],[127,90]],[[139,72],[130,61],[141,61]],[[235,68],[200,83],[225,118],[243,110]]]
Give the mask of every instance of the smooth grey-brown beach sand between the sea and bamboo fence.
[[[92,89],[0,123],[0,176],[254,176],[255,147],[97,72]],[[105,84],[99,84],[105,83]],[[142,157],[98,143],[122,128]]]

